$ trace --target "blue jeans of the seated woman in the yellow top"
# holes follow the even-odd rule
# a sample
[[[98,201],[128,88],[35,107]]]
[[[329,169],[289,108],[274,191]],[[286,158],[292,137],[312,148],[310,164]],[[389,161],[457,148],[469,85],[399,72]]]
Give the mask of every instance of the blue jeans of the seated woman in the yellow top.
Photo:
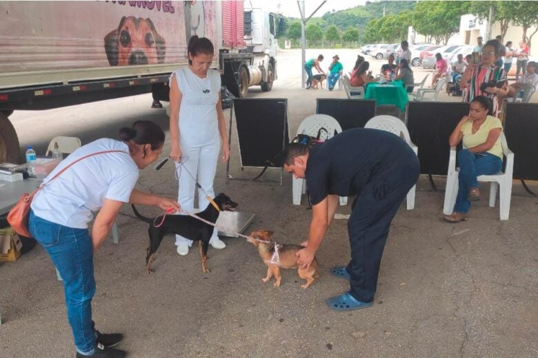
[[[501,171],[503,161],[490,153],[471,153],[468,149],[461,149],[457,154],[459,174],[459,189],[454,211],[467,213],[470,208],[468,200],[469,189],[477,188],[477,176],[497,174]]]

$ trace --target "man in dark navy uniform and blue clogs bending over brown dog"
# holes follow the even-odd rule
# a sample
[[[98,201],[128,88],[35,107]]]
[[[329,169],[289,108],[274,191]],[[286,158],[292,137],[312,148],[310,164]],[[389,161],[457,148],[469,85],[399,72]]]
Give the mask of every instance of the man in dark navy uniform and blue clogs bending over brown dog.
[[[312,201],[306,248],[297,264],[308,267],[323,240],[339,196],[357,196],[348,221],[351,261],[333,275],[350,281],[350,291],[327,300],[334,310],[372,305],[390,222],[419,177],[419,160],[407,143],[386,131],[349,129],[315,147],[292,143],[283,152],[284,170],[305,178]]]

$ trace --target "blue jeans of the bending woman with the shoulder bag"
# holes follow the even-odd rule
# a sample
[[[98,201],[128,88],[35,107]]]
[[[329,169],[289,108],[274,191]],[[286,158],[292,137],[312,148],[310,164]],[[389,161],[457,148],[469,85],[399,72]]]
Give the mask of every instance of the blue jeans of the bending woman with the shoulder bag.
[[[32,236],[48,252],[63,280],[69,324],[77,351],[94,353],[96,332],[92,321],[93,245],[88,229],[55,224],[30,211],[28,227]]]

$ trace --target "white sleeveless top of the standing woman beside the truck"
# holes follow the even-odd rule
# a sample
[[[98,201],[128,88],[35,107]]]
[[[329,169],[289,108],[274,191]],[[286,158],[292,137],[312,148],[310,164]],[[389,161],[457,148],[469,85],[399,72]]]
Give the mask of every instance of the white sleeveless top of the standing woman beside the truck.
[[[221,75],[217,70],[208,70],[206,78],[199,78],[188,66],[174,73],[181,92],[179,145],[203,147],[219,142],[217,101]]]

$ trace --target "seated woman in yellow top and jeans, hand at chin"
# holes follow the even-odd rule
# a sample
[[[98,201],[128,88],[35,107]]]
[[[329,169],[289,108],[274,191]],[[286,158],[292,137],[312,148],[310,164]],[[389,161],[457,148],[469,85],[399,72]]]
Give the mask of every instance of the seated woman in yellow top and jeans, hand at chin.
[[[450,147],[464,141],[464,149],[457,154],[459,189],[454,212],[445,215],[446,222],[468,220],[470,202],[480,200],[477,176],[496,174],[503,165],[501,147],[502,125],[491,116],[493,104],[486,96],[476,96],[470,103],[469,115],[461,118],[450,134]]]

